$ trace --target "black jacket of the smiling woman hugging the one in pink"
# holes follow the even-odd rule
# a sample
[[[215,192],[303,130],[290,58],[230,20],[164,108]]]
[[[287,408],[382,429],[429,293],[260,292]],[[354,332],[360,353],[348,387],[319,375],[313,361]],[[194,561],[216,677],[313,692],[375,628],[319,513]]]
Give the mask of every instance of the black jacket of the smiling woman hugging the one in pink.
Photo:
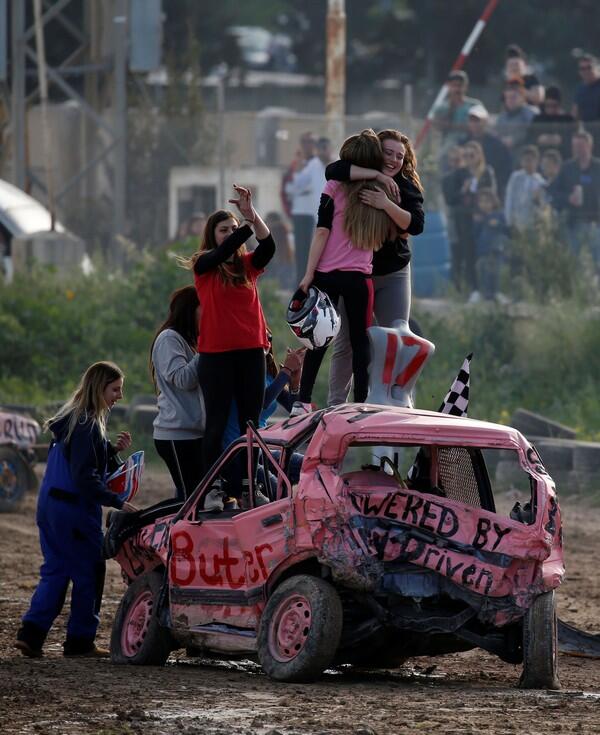
[[[329,181],[350,181],[350,161],[334,161],[325,169]],[[400,206],[411,214],[410,225],[395,240],[386,240],[377,252],[373,253],[373,275],[385,276],[402,270],[410,262],[410,247],[406,235],[420,235],[425,226],[423,194],[412,181],[401,174],[394,176],[400,189]]]

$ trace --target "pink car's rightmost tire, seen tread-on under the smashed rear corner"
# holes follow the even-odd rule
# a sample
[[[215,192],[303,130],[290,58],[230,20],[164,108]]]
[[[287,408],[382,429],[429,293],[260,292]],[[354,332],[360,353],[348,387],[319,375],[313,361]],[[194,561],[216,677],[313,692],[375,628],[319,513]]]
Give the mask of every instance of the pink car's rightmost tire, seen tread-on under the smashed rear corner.
[[[533,601],[523,619],[522,689],[560,689],[554,591]]]

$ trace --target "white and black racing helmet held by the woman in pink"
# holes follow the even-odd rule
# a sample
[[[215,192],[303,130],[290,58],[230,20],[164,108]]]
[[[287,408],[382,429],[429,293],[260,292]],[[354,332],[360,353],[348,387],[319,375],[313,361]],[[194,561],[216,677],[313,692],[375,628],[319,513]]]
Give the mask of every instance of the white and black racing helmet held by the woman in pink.
[[[315,286],[297,291],[287,309],[287,323],[309,350],[328,345],[340,331],[340,315],[331,299]]]

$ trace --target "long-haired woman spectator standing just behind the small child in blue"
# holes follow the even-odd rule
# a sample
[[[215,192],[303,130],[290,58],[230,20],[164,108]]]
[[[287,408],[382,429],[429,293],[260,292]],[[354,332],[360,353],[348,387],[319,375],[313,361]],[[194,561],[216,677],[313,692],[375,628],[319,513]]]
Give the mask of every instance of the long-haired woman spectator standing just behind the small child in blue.
[[[481,298],[481,294],[477,290],[475,240],[473,235],[473,215],[477,206],[477,192],[479,189],[491,189],[497,194],[498,189],[494,169],[487,164],[483,148],[479,143],[475,141],[466,143],[464,151],[468,175],[460,191],[464,221],[461,223],[463,239],[460,243],[459,262],[456,267],[461,286],[466,286],[470,292],[469,302],[476,303]]]

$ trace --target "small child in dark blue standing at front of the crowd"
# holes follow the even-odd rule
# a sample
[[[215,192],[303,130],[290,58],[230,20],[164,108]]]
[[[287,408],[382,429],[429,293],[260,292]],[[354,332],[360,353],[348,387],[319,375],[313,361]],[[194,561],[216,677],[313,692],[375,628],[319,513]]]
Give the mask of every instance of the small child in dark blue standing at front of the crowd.
[[[477,257],[477,283],[485,300],[507,303],[500,280],[508,257],[508,228],[500,199],[491,189],[479,189],[473,215],[473,235]]]

